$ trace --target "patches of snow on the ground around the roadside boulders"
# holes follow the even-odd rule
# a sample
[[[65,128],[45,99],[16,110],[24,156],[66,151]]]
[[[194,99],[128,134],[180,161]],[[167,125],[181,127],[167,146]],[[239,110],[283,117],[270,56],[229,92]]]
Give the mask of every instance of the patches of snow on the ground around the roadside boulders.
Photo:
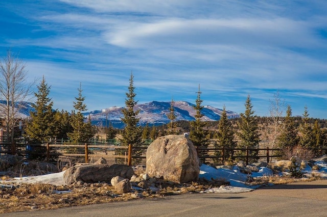
[[[302,172],[306,173],[307,176],[319,175],[323,178],[327,178],[327,163],[324,161],[316,161],[315,165],[319,166],[319,170],[313,171],[311,167],[303,169]],[[28,177],[16,177],[10,182],[15,183],[47,183],[54,185],[64,185],[63,172],[52,173],[40,176],[28,176]],[[216,188],[207,189],[202,193],[240,193],[240,192],[250,192],[253,189],[260,187],[260,185],[250,185],[247,184],[249,179],[271,176],[273,172],[267,167],[261,167],[259,172],[252,172],[252,174],[241,173],[240,168],[234,166],[232,169],[216,169],[211,166],[202,164],[200,167],[200,178],[205,178],[206,180],[213,179],[224,179],[229,181],[229,186],[221,186]],[[283,175],[283,173],[281,173]],[[6,183],[7,181],[1,181],[1,183]]]

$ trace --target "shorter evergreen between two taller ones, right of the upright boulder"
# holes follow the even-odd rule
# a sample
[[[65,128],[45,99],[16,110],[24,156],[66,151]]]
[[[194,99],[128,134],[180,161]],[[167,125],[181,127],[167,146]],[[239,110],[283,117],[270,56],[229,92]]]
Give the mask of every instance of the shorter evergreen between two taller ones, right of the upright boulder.
[[[226,107],[224,105],[223,112],[221,113],[220,120],[218,122],[218,132],[217,132],[217,143],[216,148],[235,148],[236,142],[234,138],[234,130],[232,128],[231,122],[229,121],[226,114]],[[229,158],[233,153],[233,150],[225,150],[224,159]],[[220,152],[216,153],[218,156]]]

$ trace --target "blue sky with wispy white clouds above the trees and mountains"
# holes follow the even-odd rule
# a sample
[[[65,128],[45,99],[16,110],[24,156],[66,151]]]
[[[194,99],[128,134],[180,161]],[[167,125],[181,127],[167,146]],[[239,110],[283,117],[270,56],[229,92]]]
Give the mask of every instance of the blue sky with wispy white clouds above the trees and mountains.
[[[3,0],[0,54],[51,85],[71,111],[124,106],[131,71],[138,103],[195,103],[269,115],[274,94],[327,118],[327,2],[244,0]]]

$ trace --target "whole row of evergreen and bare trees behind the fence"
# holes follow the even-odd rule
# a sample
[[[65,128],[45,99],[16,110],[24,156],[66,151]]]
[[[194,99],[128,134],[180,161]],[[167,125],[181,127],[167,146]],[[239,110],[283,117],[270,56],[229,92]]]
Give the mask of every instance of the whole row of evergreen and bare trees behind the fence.
[[[82,95],[82,85],[77,88],[77,96],[73,102],[74,110],[67,111],[54,110],[53,101],[49,97],[51,86],[48,85],[44,76],[37,85],[37,91],[32,92],[31,87],[35,84],[27,83],[27,71],[25,64],[21,62],[9,50],[7,56],[0,61],[0,97],[6,103],[2,106],[2,120],[6,131],[6,139],[14,144],[15,130],[18,127],[19,112],[22,101],[29,95],[36,97],[33,105],[34,111],[30,118],[25,121],[24,137],[29,142],[41,143],[50,141],[52,138],[64,138],[69,143],[86,143],[94,138],[97,127],[93,126],[90,117],[85,118],[83,112],[87,111],[84,103],[85,97]],[[120,142],[124,145],[132,144],[134,148],[144,144],[147,139],[156,139],[161,135],[180,134],[189,132],[189,138],[195,146],[209,145],[209,139],[215,139],[215,147],[221,148],[258,148],[259,146],[281,148],[281,150],[292,151],[299,148],[304,152],[313,151],[315,148],[326,147],[327,132],[322,128],[324,122],[319,122],[309,118],[309,112],[305,106],[302,117],[292,117],[290,105],[286,105],[277,92],[274,99],[270,101],[269,117],[258,117],[253,111],[250,95],[245,101],[245,111],[238,119],[228,119],[226,108],[223,106],[221,118],[217,122],[203,122],[201,113],[203,106],[201,100],[200,85],[198,86],[197,98],[194,109],[196,111],[195,120],[191,122],[176,121],[174,111],[174,100],[171,101],[170,123],[158,127],[141,127],[138,125],[139,110],[134,110],[137,101],[133,83],[133,73],[130,75],[128,91],[126,92],[125,107],[122,109],[122,121],[125,128],[114,129],[112,126],[106,127],[106,139],[116,138],[121,135]],[[285,113],[285,114],[284,114]],[[135,149],[136,151],[137,149]],[[205,152],[199,154],[205,155]],[[219,154],[218,152],[216,153]],[[232,153],[225,153],[226,157]],[[239,153],[244,154],[240,151]],[[252,152],[253,156],[258,152]]]

